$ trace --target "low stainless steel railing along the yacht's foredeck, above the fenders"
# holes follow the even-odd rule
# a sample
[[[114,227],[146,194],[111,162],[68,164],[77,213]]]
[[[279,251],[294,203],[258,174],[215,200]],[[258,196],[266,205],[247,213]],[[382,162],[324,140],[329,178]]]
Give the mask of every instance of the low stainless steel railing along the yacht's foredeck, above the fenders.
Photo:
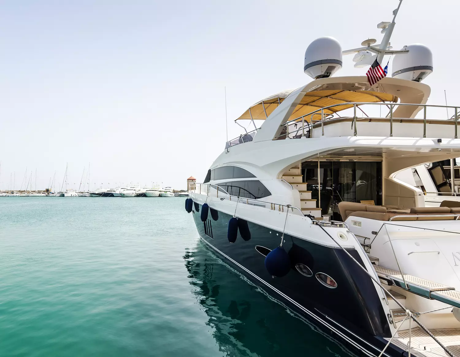
[[[211,188],[213,188],[214,190],[210,190]],[[220,197],[219,197],[219,191],[220,191]],[[305,217],[304,213],[302,213],[302,210],[299,207],[295,207],[292,205],[283,205],[281,203],[261,201],[259,199],[230,195],[230,193],[228,193],[226,190],[224,190],[222,187],[216,184],[196,184],[196,183],[190,184],[189,192],[195,193],[198,195],[206,195],[207,197],[213,197],[213,195],[215,194],[216,198],[221,198],[221,199],[224,199],[222,195],[227,195],[229,197],[229,201],[237,201],[238,203],[249,204],[249,205],[262,207],[262,208],[269,208],[272,211],[284,212],[285,210],[288,210],[290,208],[292,212],[296,210],[296,212],[299,212],[300,215],[302,215],[302,217]]]

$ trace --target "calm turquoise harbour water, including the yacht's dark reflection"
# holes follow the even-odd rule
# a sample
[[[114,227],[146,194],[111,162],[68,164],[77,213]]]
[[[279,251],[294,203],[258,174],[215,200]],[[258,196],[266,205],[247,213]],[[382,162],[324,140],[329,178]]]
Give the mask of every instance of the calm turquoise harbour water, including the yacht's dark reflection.
[[[184,198],[0,197],[0,356],[349,356],[199,242]]]

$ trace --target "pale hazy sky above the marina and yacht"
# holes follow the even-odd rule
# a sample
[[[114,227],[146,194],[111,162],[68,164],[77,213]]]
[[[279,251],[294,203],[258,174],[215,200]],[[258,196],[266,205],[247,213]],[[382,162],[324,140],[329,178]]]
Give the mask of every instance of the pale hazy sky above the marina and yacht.
[[[311,81],[303,61],[312,40],[334,36],[343,49],[380,41],[376,24],[397,4],[0,1],[0,189],[12,172],[19,189],[26,167],[37,169],[38,189],[55,171],[60,188],[66,162],[75,188],[89,162],[92,188],[201,182],[225,145],[224,86],[234,138],[249,105]],[[445,89],[460,105],[459,7],[404,0],[397,17],[394,48],[433,51],[430,104],[444,104]],[[351,58],[336,75],[365,74]]]

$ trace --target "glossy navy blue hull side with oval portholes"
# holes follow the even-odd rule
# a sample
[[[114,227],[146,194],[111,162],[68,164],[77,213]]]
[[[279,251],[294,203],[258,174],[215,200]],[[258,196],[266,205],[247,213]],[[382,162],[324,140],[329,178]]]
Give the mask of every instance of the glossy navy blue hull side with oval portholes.
[[[338,334],[352,347],[366,355],[380,354],[391,337],[385,311],[370,277],[339,248],[331,248],[284,235],[283,248],[288,252],[292,268],[286,276],[272,277],[265,269],[265,256],[255,246],[275,249],[282,232],[270,230],[248,222],[251,239],[245,241],[238,233],[235,243],[227,239],[230,215],[211,212],[206,222],[200,213],[192,211],[201,240],[218,255],[250,278],[274,298],[288,305],[293,311],[314,322],[327,333]],[[201,211],[201,205],[199,206]],[[218,217],[216,217],[218,216]],[[349,253],[362,264],[355,250]],[[304,276],[295,268],[296,263],[307,265],[313,276]],[[337,282],[337,288],[320,283],[315,274],[325,273]],[[386,356],[403,356],[403,350],[389,346]]]

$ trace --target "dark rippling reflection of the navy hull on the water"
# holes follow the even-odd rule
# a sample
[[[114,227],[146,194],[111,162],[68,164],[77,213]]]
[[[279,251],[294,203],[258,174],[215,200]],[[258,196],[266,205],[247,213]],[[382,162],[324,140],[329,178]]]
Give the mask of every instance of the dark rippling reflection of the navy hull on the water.
[[[207,325],[227,356],[354,356],[247,278],[201,242],[184,255]]]

